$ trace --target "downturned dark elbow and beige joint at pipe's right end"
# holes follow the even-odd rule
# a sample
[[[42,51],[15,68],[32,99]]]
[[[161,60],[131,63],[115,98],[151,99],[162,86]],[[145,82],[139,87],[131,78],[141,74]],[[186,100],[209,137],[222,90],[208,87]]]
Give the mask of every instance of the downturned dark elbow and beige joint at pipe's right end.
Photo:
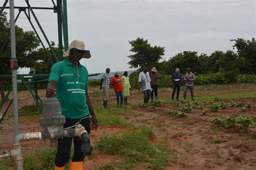
[[[75,128],[75,136],[79,136],[82,141],[81,151],[84,156],[89,156],[92,154],[92,145],[90,141],[90,136],[88,132],[84,129],[84,126],[81,124],[77,124]]]

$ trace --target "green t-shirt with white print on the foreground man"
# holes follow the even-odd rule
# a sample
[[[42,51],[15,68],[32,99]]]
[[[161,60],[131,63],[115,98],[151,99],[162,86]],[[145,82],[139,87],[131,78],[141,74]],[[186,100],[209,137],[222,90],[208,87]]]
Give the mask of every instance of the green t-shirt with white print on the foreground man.
[[[56,81],[56,97],[62,108],[62,115],[78,119],[89,114],[86,103],[86,91],[88,91],[88,72],[86,67],[76,66],[71,61],[65,59],[55,63],[51,68],[50,81]]]

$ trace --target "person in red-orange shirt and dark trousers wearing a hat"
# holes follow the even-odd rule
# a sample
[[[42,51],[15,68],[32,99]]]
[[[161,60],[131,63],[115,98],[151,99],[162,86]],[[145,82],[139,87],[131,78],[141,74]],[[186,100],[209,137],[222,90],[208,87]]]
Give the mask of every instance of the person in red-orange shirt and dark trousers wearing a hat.
[[[114,73],[114,76],[111,80],[111,85],[114,86],[114,92],[116,92],[116,95],[117,95],[117,106],[122,107],[122,105],[123,105],[123,83],[122,83],[122,77],[120,77],[120,73],[118,73],[118,72]],[[120,104],[119,104],[119,98],[120,98]]]

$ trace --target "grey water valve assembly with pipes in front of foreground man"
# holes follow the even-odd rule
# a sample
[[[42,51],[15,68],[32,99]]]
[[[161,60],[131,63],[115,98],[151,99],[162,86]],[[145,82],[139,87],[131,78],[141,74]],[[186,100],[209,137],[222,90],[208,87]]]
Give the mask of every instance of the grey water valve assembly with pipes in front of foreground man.
[[[86,118],[91,118],[88,116]],[[18,134],[14,139],[14,150],[10,153],[5,151],[5,154],[0,155],[0,158],[14,157],[18,170],[23,170],[24,158],[22,152],[22,143],[24,140],[50,139],[50,146],[57,146],[58,138],[62,137],[80,137],[83,141],[81,151],[84,156],[91,155],[92,146],[90,136],[84,129],[84,126],[77,123],[69,128],[63,129],[65,117],[62,115],[60,103],[57,98],[46,98],[43,105],[43,117],[39,119],[39,124],[42,126],[42,132],[30,132]]]

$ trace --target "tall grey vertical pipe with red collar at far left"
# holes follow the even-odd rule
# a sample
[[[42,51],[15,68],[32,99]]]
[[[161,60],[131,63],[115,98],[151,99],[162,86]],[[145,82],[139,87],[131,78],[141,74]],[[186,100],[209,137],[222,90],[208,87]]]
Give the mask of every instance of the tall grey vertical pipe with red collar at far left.
[[[16,60],[14,0],[10,0],[9,3],[10,3],[11,59]],[[12,69],[12,93],[14,98],[14,135],[17,136],[19,134],[17,69]]]

